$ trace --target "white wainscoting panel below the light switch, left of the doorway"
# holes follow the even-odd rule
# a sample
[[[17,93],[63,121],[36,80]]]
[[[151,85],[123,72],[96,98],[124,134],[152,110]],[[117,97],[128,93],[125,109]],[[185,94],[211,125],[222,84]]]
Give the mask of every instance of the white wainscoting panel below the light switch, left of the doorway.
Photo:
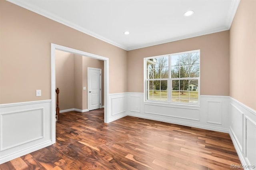
[[[52,144],[51,100],[0,105],[0,164]]]

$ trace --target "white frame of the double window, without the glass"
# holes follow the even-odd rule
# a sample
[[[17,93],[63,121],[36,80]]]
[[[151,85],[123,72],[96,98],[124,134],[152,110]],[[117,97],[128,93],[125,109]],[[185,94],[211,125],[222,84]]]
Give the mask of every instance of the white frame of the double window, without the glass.
[[[199,77],[184,77],[184,78],[171,78],[171,55],[181,55],[181,54],[186,54],[186,53],[195,53],[195,52],[200,52],[200,49],[198,50],[193,50],[193,51],[185,51],[185,52],[181,52],[181,53],[172,53],[172,54],[166,54],[166,55],[158,55],[158,56],[152,56],[152,57],[145,57],[144,58],[144,102],[150,102],[150,103],[170,103],[170,104],[180,104],[180,105],[200,105],[200,55],[199,55]],[[164,79],[150,79],[152,81],[154,80],[167,80],[167,101],[156,101],[156,100],[148,100],[147,99],[147,60],[148,59],[152,59],[152,58],[158,58],[158,57],[166,57],[168,56],[168,60],[169,60],[169,78],[164,78]],[[197,91],[198,91],[198,103],[184,103],[184,102],[174,102],[172,101],[172,80],[198,80],[198,87],[197,87]]]

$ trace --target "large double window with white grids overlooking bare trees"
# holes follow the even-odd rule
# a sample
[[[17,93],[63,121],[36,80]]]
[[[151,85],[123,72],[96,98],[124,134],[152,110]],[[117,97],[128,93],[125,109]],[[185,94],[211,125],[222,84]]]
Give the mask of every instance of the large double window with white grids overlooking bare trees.
[[[146,101],[199,103],[199,50],[144,60]]]

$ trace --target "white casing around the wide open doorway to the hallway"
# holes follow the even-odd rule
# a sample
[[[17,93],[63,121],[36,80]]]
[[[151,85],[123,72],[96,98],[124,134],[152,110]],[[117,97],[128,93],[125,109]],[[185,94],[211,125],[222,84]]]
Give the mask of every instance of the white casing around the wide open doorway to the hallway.
[[[55,122],[55,115],[56,115],[56,99],[55,99],[55,50],[60,51],[66,51],[69,53],[74,53],[78,55],[83,55],[86,57],[94,58],[94,59],[100,59],[104,61],[104,123],[109,122],[108,118],[108,69],[109,69],[109,60],[107,57],[102,57],[100,55],[95,55],[92,53],[87,53],[84,51],[80,51],[77,49],[65,47],[62,45],[57,45],[54,43],[51,43],[51,98],[52,98],[52,112],[51,112],[51,132],[52,132],[52,144],[56,142],[56,122]],[[60,89],[61,90],[61,89]],[[61,91],[60,91],[61,93]]]

